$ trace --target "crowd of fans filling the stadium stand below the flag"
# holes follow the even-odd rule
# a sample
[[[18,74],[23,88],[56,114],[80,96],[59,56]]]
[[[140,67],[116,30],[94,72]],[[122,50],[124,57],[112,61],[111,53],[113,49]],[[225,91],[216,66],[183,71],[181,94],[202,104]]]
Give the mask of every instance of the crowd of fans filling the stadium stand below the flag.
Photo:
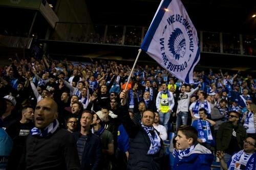
[[[107,60],[10,59],[0,77],[0,156],[7,156],[0,169],[182,169],[192,148],[208,154],[192,169],[207,169],[214,154],[224,169],[234,153],[248,158],[237,159],[236,169],[249,166],[256,148],[251,76],[195,71],[188,85],[159,66],[137,65],[127,82],[130,72]]]

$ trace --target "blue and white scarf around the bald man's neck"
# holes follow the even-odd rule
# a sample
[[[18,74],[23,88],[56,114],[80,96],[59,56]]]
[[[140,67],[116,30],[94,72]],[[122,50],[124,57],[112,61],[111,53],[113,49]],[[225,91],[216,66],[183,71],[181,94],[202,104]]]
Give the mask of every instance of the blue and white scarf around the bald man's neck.
[[[45,136],[49,136],[49,135],[53,134],[57,130],[58,127],[59,127],[59,122],[57,119],[55,119],[45,129],[38,129],[38,128],[34,127],[33,129],[30,130],[30,134],[32,136],[45,137]]]

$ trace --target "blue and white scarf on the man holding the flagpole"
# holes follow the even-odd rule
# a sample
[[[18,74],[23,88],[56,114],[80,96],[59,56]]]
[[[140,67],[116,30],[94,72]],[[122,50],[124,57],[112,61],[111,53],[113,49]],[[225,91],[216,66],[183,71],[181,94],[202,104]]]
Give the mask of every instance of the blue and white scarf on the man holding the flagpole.
[[[161,143],[160,143],[161,139],[160,139],[159,135],[157,134],[156,130],[154,129],[153,126],[147,127],[147,126],[144,126],[142,123],[141,123],[141,127],[146,131],[148,137],[150,138],[150,142],[151,142],[150,150],[147,151],[147,155],[153,155],[153,154],[158,153],[158,151],[161,148]],[[152,131],[155,133],[154,137],[150,133]]]

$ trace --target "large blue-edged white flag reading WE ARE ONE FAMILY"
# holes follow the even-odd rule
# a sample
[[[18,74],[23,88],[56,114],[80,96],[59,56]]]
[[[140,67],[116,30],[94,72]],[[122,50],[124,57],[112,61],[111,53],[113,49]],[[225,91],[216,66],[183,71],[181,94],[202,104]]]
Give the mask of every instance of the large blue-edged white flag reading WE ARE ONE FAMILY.
[[[141,50],[175,77],[192,84],[200,59],[197,30],[180,0],[162,0]]]

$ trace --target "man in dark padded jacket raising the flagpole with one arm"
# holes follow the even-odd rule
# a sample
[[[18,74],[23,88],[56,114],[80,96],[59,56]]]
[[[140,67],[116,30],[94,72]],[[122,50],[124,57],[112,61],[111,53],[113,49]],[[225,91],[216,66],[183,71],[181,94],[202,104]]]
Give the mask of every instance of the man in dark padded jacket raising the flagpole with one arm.
[[[120,93],[120,99],[123,99],[121,103],[123,107],[123,126],[131,138],[127,169],[162,169],[163,144],[158,132],[153,127],[154,112],[144,111],[141,124],[135,124],[130,118],[128,107],[126,106],[125,91]]]

